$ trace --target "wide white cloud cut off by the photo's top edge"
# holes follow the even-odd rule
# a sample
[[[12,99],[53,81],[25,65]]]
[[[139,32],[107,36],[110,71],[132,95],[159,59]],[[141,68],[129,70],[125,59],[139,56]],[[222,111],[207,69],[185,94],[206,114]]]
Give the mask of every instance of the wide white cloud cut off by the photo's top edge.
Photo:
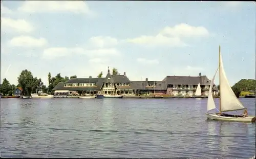
[[[22,12],[72,12],[89,13],[89,7],[84,1],[25,1],[17,9]]]

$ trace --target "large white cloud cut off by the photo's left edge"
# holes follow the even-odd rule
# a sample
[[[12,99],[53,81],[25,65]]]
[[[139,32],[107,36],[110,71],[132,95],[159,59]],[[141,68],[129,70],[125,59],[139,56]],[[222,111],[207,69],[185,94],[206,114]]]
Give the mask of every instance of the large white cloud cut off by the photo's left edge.
[[[7,17],[1,17],[1,30],[14,30],[16,32],[31,32],[34,27],[24,19],[11,19]]]

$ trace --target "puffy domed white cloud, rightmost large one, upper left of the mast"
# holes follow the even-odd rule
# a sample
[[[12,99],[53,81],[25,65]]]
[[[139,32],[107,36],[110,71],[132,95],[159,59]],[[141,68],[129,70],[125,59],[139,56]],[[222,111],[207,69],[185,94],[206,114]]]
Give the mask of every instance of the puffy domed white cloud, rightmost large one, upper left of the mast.
[[[174,27],[165,27],[160,34],[172,37],[205,37],[209,32],[204,27],[194,27],[187,24],[179,24]]]

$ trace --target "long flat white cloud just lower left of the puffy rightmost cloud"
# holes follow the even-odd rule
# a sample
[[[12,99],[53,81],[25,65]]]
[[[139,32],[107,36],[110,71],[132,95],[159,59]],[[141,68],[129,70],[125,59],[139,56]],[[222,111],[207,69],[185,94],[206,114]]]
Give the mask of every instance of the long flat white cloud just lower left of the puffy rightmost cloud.
[[[184,47],[187,46],[178,37],[166,37],[161,34],[157,36],[140,36],[133,39],[127,39],[127,42],[146,44],[148,46],[169,46],[169,47]]]

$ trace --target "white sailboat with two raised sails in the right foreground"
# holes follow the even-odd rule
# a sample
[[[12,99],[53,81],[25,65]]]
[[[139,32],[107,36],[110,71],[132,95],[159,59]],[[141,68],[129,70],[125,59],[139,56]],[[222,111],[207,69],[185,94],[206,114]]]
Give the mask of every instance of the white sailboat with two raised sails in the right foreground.
[[[206,112],[207,118],[212,120],[223,120],[223,121],[237,121],[237,122],[255,122],[255,116],[243,117],[239,115],[229,115],[227,113],[222,113],[225,111],[235,111],[246,109],[239,99],[234,95],[233,90],[231,89],[224,68],[221,57],[221,47],[219,47],[219,67],[214,74],[214,77],[210,83],[208,101],[207,101],[207,111],[216,109],[214,98],[212,97],[212,86],[214,85],[215,76],[219,70],[220,78],[220,102],[219,102],[219,112],[210,113]]]

